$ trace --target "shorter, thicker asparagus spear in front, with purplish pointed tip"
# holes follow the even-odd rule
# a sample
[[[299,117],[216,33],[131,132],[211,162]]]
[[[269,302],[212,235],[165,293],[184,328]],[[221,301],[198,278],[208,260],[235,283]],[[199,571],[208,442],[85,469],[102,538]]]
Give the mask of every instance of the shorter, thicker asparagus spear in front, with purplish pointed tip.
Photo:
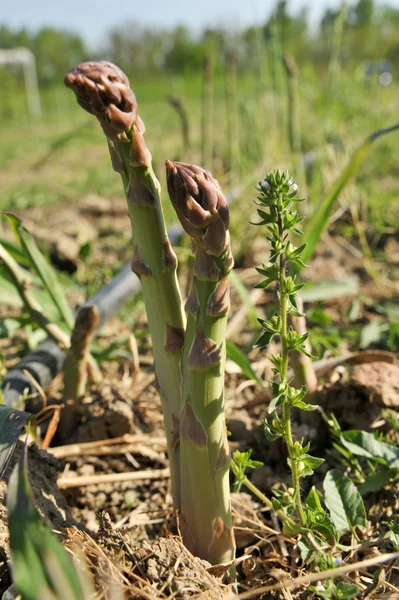
[[[180,414],[181,515],[185,544],[212,564],[234,558],[224,364],[230,305],[229,211],[209,171],[166,161],[169,196],[195,255],[186,311]]]

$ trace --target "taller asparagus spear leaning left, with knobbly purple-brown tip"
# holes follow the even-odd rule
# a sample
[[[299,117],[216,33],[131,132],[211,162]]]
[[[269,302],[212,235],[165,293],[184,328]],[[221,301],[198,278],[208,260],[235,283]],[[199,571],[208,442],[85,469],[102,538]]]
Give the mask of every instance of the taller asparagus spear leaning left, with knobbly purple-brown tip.
[[[145,127],[126,75],[112,63],[80,64],[69,71],[65,84],[75,92],[78,103],[97,117],[108,140],[113,168],[122,177],[132,227],[132,269],[141,279],[162,398],[172,493],[179,507],[177,423],[185,316],[176,277],[177,259],[162,214],[160,185],[143,137]]]

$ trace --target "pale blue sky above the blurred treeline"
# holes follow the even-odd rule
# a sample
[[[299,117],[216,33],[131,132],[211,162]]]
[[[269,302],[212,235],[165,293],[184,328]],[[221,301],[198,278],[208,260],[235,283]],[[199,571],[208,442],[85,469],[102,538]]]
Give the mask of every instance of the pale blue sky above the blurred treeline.
[[[106,32],[129,21],[169,28],[186,25],[194,31],[204,27],[243,28],[263,23],[274,0],[19,0],[1,1],[0,24],[33,31],[52,26],[82,34],[92,48]],[[327,7],[337,8],[341,0],[288,0],[289,11],[308,8],[315,27]],[[375,0],[399,8],[399,0]]]

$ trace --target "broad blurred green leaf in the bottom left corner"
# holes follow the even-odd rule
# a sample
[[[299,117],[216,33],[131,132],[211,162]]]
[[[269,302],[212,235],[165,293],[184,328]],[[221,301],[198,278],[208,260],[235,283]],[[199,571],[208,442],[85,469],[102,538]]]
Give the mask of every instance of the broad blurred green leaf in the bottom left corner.
[[[7,496],[13,579],[24,600],[84,600],[79,575],[37,511],[24,461],[10,477]]]

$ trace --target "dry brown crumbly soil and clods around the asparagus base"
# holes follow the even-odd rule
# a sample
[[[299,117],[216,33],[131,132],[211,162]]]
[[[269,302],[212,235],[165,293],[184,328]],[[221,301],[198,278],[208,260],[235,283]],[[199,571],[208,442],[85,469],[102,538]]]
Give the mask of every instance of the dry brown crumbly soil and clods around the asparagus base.
[[[124,252],[116,250],[112,237],[116,237],[117,232],[120,236],[119,228],[126,231],[125,213],[119,210],[118,203],[101,200],[103,202],[99,202],[98,198],[88,198],[79,208],[65,209],[71,212],[67,220],[69,224],[80,222],[82,217],[87,220],[86,232],[90,235],[86,235],[84,243],[90,242],[93,235],[97,238],[99,247],[90,258],[95,272],[97,252],[98,261],[100,256],[107,255],[110,265],[119,264],[127,258]],[[113,217],[112,229],[110,216]],[[59,211],[55,217],[59,224]],[[51,221],[51,210],[48,218]],[[31,211],[26,220],[35,223],[38,219],[40,214]],[[60,264],[61,261],[62,266],[64,260],[69,265],[67,270],[74,265],[79,273],[83,267],[79,252],[76,252],[76,242],[79,240],[81,244],[82,237],[79,236],[83,234],[68,225],[63,235],[65,239],[69,237],[72,240],[69,250],[66,250],[68,244],[65,243],[63,256],[59,251],[60,244],[57,252],[54,250],[54,240],[46,240],[48,247],[58,253],[55,263],[58,260],[57,264]],[[393,247],[392,253],[397,260],[397,246]],[[261,256],[259,260],[257,255]],[[264,261],[264,255],[260,241],[255,244],[250,260],[240,261],[243,266],[239,273],[249,290],[256,281],[252,264]],[[350,265],[347,253],[337,240],[326,238],[323,251],[316,256],[314,269],[309,271],[313,276],[316,273],[317,278],[334,279],[347,275],[349,267],[351,272],[361,269],[359,259],[353,258],[349,262]],[[377,297],[379,291],[376,286],[369,280],[366,284],[369,286],[368,296]],[[77,302],[81,301],[78,296]],[[261,298],[259,304],[265,301],[268,301],[267,295]],[[233,293],[232,303],[233,320],[241,308],[238,294]],[[347,301],[339,299],[329,304],[329,312],[339,321],[347,306]],[[260,312],[267,309],[262,304],[258,308]],[[366,320],[367,314],[360,318]],[[144,316],[137,321],[139,327],[145,330]],[[114,318],[106,327],[106,343],[129,333],[130,328]],[[247,350],[253,331],[248,327],[245,316],[232,332],[231,339],[245,349],[258,375],[269,379],[271,368],[264,352]],[[2,343],[6,366],[15,362],[16,349],[20,348],[23,340],[19,333],[10,342]],[[62,532],[64,544],[79,557],[87,579],[93,580],[99,591],[97,597],[218,600],[230,597],[235,591],[272,585],[303,574],[296,540],[283,535],[274,514],[244,490],[233,494],[237,584],[232,584],[227,567],[212,567],[184,548],[178,535],[178,519],[176,522],[171,509],[161,405],[149,350],[149,339],[140,339],[141,365],[138,372],[128,360],[102,363],[103,382],[88,390],[76,415],[70,439],[61,438],[61,421],[48,451],[39,449],[35,444],[29,448],[28,466],[35,502],[50,526]],[[324,373],[315,395],[316,403],[326,413],[334,413],[342,429],[371,431],[378,428],[382,433],[388,432],[390,427],[384,411],[389,409],[395,413],[399,403],[399,367],[395,358],[392,363],[379,360],[346,365]],[[285,448],[278,442],[266,443],[264,437],[263,422],[267,417],[269,395],[237,371],[236,365],[228,361],[226,416],[230,446],[232,450],[251,449],[252,458],[264,463],[263,467],[251,472],[250,478],[262,492],[270,494],[272,486],[284,489],[284,486],[290,485]],[[58,377],[47,392],[47,403],[59,403],[61,393],[62,378]],[[311,417],[306,416],[309,414]],[[41,426],[42,439],[47,424],[48,420]],[[327,458],[327,463],[306,481],[308,488],[319,486],[326,470],[337,460],[336,457],[331,458],[333,440],[329,429],[321,414],[312,412],[305,413],[305,416],[295,415],[294,430],[295,435],[309,439],[312,454]],[[7,480],[22,447],[21,442],[5,480],[0,483],[0,596],[11,585],[5,507]],[[131,472],[154,470],[160,473],[155,479],[144,478],[134,483],[128,479]],[[96,483],[97,477],[124,473],[125,481]],[[82,478],[81,481],[85,478],[85,485],[69,486],[77,477]],[[378,534],[380,524],[399,510],[397,491],[392,487],[383,488],[367,496],[365,501],[370,528]],[[365,556],[354,552],[352,560]],[[376,588],[380,592],[381,589]],[[313,596],[303,589],[297,592],[282,589],[254,597],[295,597],[302,600]]]

